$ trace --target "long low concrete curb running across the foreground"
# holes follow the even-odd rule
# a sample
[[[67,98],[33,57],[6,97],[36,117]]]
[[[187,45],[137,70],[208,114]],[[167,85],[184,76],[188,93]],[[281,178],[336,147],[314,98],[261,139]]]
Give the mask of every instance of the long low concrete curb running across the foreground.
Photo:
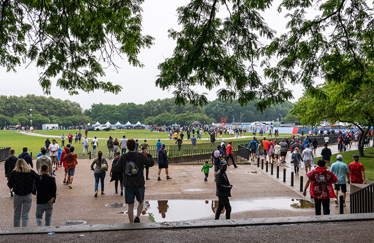
[[[139,230],[139,229],[178,229],[178,228],[197,228],[197,227],[202,228],[202,227],[222,227],[222,226],[223,227],[267,226],[267,225],[330,223],[330,222],[367,221],[367,220],[368,221],[374,220],[374,213],[336,214],[336,215],[303,216],[303,217],[233,219],[233,220],[210,220],[210,221],[177,221],[177,222],[140,223],[140,224],[0,228],[0,235],[45,234],[48,232],[77,233],[77,232]]]

